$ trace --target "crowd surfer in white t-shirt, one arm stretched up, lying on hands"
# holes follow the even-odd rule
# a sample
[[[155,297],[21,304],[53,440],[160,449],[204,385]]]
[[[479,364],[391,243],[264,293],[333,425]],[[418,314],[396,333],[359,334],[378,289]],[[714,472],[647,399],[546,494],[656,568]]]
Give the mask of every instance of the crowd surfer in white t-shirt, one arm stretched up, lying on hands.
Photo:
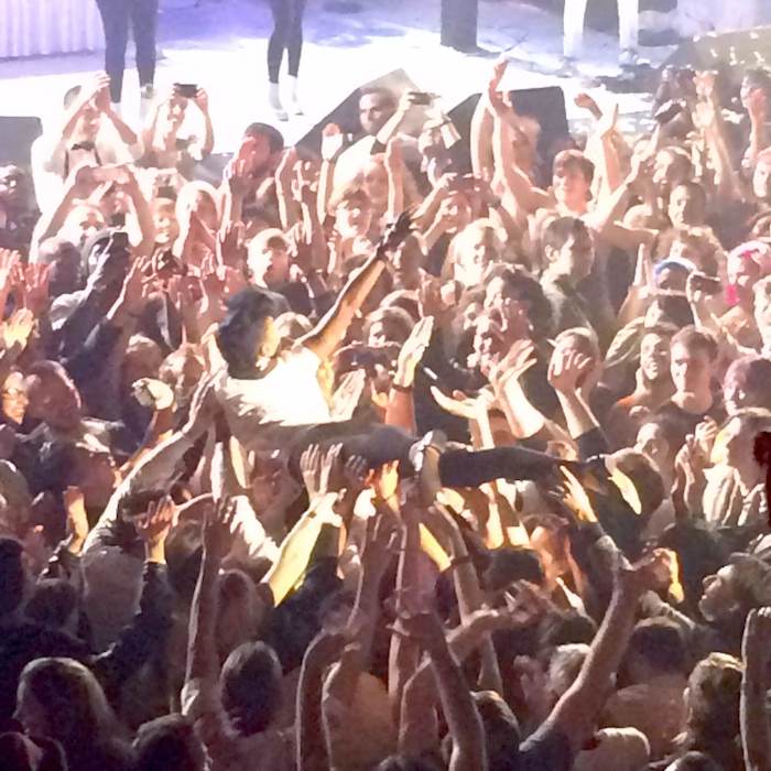
[[[351,274],[334,307],[289,351],[281,349],[275,330],[274,295],[254,286],[230,300],[217,330],[217,346],[227,371],[214,384],[230,433],[247,452],[285,450],[289,469],[297,477],[305,449],[336,443],[343,444],[345,455],[359,455],[371,468],[393,460],[406,468],[411,464],[420,466],[423,480],[431,486],[476,487],[499,478],[513,481],[551,475],[566,461],[521,447],[477,453],[454,447],[442,452],[430,437],[420,442],[393,425],[356,417],[333,422],[317,379],[318,368],[344,339],[384,270],[387,253],[403,240],[409,226],[409,217],[402,216],[374,254]],[[394,381],[394,388],[411,391],[412,382]],[[426,458],[431,458],[428,463]],[[572,466],[578,473],[579,464]]]

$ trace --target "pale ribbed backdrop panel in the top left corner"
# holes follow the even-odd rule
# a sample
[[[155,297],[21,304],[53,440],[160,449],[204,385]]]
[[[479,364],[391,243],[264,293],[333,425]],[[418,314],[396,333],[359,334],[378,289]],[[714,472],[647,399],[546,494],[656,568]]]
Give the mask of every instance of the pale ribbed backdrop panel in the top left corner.
[[[94,0],[0,0],[0,58],[104,46]]]

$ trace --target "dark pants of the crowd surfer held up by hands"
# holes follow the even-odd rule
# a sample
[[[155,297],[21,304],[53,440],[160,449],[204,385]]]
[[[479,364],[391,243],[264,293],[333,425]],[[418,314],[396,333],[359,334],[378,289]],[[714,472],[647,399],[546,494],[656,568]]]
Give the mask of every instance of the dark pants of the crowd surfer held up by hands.
[[[410,449],[416,442],[417,438],[405,431],[382,423],[324,423],[308,427],[294,439],[290,449],[290,470],[301,479],[300,457],[310,445],[325,448],[340,443],[344,458],[360,455],[370,468],[399,460],[400,473],[409,475],[412,470]],[[439,478],[444,487],[479,487],[495,479],[546,479],[562,465],[571,464],[523,447],[477,452],[447,448],[439,459]]]

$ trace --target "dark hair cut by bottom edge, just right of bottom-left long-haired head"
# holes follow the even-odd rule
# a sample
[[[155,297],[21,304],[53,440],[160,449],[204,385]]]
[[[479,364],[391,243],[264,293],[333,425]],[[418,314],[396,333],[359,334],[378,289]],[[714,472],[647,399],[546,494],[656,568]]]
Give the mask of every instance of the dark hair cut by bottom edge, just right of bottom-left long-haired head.
[[[182,715],[164,715],[145,723],[133,742],[134,771],[202,771],[204,749]]]

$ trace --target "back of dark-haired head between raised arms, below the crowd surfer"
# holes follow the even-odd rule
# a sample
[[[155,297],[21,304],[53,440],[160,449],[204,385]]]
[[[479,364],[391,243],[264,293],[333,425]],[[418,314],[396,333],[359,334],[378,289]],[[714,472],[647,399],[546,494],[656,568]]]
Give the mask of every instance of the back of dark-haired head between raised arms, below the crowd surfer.
[[[281,664],[263,642],[245,642],[222,664],[222,707],[241,736],[264,731],[281,706]]]

